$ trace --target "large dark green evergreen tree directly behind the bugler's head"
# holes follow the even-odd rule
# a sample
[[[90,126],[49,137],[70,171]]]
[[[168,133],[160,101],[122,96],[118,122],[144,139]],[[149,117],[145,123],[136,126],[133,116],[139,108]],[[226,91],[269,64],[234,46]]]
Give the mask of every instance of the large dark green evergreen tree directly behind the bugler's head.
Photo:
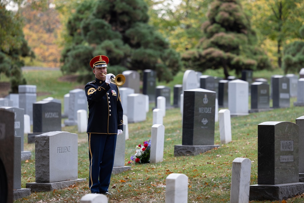
[[[160,81],[170,81],[181,69],[181,59],[169,43],[148,25],[143,0],[90,0],[82,2],[67,23],[71,43],[61,57],[61,70],[94,76],[89,61],[109,57],[108,72],[152,69]]]

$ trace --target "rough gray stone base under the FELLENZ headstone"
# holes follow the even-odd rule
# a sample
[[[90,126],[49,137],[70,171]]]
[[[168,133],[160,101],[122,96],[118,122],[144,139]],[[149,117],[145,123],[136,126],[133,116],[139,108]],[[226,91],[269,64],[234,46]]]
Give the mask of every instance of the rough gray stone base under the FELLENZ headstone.
[[[65,180],[58,181],[53,183],[27,183],[26,188],[30,188],[31,192],[41,192],[41,191],[53,191],[59,190],[65,187],[69,187],[70,185],[75,184],[75,182],[84,182],[86,179],[75,179],[75,180]]]

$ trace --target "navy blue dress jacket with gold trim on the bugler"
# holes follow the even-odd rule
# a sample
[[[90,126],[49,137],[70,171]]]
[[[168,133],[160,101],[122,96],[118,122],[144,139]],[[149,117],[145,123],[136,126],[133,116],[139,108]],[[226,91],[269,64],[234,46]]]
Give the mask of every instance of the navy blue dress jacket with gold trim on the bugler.
[[[89,117],[87,133],[117,134],[123,130],[123,107],[118,86],[95,78],[85,85]]]

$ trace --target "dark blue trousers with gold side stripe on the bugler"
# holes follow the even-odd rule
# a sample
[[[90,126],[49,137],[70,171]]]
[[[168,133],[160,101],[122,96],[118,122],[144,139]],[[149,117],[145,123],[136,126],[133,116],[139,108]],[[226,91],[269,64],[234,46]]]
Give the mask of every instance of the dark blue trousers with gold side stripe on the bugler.
[[[91,192],[108,191],[114,164],[117,135],[88,133],[89,188]]]

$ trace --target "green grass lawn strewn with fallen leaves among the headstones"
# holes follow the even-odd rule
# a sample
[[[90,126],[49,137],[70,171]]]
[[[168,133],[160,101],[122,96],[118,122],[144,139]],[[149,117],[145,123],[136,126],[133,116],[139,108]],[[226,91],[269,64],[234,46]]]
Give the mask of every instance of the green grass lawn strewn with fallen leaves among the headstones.
[[[208,72],[207,74],[220,76],[219,73],[215,72]],[[276,72],[254,72],[254,78],[266,78],[270,81],[271,75],[275,74],[282,74],[282,72],[280,70]],[[58,80],[62,77],[60,71],[26,71],[24,75],[28,84],[37,85],[37,95],[40,95],[37,96],[37,101],[52,96],[60,99],[63,104],[64,94],[71,89],[83,86],[83,84],[77,82]],[[182,84],[182,73],[178,73],[174,82],[175,84]],[[166,84],[169,87],[173,87],[173,85],[174,83]],[[295,98],[291,99],[290,108],[232,117],[232,142],[228,144],[220,144],[219,123],[216,122],[215,145],[220,145],[220,147],[197,156],[174,157],[174,145],[181,145],[182,117],[179,108],[168,109],[163,121],[165,126],[163,162],[157,164],[127,164],[130,156],[135,153],[136,145],[150,139],[152,107],[154,107],[154,104],[150,104],[146,121],[129,123],[128,125],[129,139],[126,140],[125,163],[131,166],[131,170],[112,175],[109,187],[109,192],[112,195],[108,196],[108,201],[113,203],[165,202],[165,188],[163,186],[166,184],[166,177],[170,173],[183,173],[188,177],[188,202],[230,202],[233,160],[237,157],[250,159],[252,162],[250,184],[257,184],[257,125],[264,121],[290,121],[295,123],[296,118],[304,115],[304,107],[293,107],[295,100]],[[86,178],[87,181],[61,190],[35,192],[29,197],[14,201],[15,203],[78,202],[82,196],[90,193],[88,188],[87,134],[78,133],[77,126],[67,126],[62,128],[62,131],[78,134],[78,178]],[[26,183],[35,182],[35,145],[27,144],[27,136],[25,136],[24,143],[24,150],[32,152],[32,159],[22,161],[22,188],[26,187]],[[286,202],[303,202],[303,197],[304,195],[297,196]]]

